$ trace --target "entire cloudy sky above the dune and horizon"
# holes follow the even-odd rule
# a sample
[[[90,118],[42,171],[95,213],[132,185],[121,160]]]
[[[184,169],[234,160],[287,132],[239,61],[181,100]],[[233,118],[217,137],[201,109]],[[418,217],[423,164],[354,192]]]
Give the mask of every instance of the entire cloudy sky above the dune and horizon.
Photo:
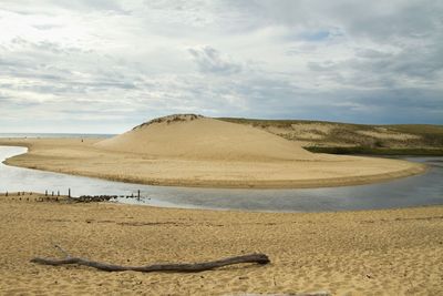
[[[0,133],[443,124],[443,1],[0,0]]]

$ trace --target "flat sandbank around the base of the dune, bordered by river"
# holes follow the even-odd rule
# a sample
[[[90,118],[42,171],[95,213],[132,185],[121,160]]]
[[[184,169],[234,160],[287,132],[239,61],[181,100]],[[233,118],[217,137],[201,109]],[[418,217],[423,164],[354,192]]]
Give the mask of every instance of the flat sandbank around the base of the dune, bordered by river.
[[[7,160],[10,165],[154,185],[340,186],[373,183],[425,171],[423,165],[405,161],[327,154],[310,156],[310,153],[307,154],[309,160],[280,161],[153,157],[142,153],[97,147],[95,144],[101,140],[0,139],[0,145],[20,145],[30,149],[27,154]],[[305,154],[296,153],[297,155]]]

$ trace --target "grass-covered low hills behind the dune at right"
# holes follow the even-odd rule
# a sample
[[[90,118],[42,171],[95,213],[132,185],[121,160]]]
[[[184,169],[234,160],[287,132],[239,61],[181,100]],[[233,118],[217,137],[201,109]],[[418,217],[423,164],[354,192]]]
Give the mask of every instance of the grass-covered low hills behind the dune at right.
[[[290,141],[302,141],[311,152],[373,155],[443,155],[443,125],[369,125],[307,120],[219,120],[251,125]]]

